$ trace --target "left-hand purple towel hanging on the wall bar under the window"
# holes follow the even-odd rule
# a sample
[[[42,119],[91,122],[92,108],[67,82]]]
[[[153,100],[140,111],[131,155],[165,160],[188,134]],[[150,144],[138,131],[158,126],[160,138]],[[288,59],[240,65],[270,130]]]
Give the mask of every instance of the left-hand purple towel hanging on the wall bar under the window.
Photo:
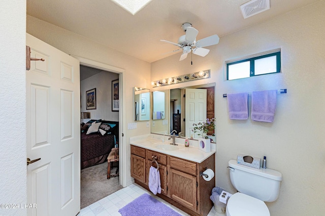
[[[229,119],[248,119],[248,93],[227,94]]]

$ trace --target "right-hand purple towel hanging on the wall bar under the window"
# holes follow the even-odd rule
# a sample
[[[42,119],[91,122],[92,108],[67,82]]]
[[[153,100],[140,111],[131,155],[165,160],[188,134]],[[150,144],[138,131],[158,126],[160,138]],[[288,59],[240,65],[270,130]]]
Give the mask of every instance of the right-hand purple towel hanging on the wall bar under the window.
[[[252,93],[253,121],[273,122],[276,107],[277,90]]]

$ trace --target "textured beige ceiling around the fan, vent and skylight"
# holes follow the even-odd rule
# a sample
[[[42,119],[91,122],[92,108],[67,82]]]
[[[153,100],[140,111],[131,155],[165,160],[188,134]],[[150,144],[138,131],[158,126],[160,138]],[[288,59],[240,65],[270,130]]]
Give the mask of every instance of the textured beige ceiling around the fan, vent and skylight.
[[[159,40],[177,43],[184,34],[184,22],[199,30],[197,40],[218,34],[221,41],[224,35],[318,1],[270,0],[270,10],[247,19],[243,18],[240,6],[248,0],[153,0],[136,15],[110,0],[28,0],[27,14],[154,62],[175,54],[164,54],[177,47]]]

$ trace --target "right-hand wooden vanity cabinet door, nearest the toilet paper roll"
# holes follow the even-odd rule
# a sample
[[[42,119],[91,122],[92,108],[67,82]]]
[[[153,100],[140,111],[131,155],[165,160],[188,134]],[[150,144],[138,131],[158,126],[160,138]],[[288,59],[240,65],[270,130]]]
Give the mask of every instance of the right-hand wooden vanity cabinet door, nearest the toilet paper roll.
[[[171,198],[187,208],[197,211],[197,177],[170,168],[169,178]]]

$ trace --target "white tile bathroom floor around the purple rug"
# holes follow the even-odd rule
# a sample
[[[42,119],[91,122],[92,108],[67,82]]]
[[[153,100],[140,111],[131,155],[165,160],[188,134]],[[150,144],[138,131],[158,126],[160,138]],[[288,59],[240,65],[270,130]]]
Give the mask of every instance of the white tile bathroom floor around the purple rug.
[[[126,188],[123,188],[115,193],[83,208],[80,210],[80,213],[77,216],[120,216],[121,214],[118,212],[120,208],[122,208],[127,203],[133,201],[140,195],[148,193],[152,195],[149,191],[145,190],[138,184],[132,184]],[[184,211],[176,208],[175,206],[169,204],[165,200],[155,196],[157,200],[160,202],[165,203],[167,206],[173,208],[175,211],[179,212],[181,215],[188,215]],[[212,207],[211,211],[209,212],[208,216],[224,216],[225,214],[219,214],[214,210]],[[139,215],[141,216],[141,215]],[[153,216],[153,215],[152,215]]]

